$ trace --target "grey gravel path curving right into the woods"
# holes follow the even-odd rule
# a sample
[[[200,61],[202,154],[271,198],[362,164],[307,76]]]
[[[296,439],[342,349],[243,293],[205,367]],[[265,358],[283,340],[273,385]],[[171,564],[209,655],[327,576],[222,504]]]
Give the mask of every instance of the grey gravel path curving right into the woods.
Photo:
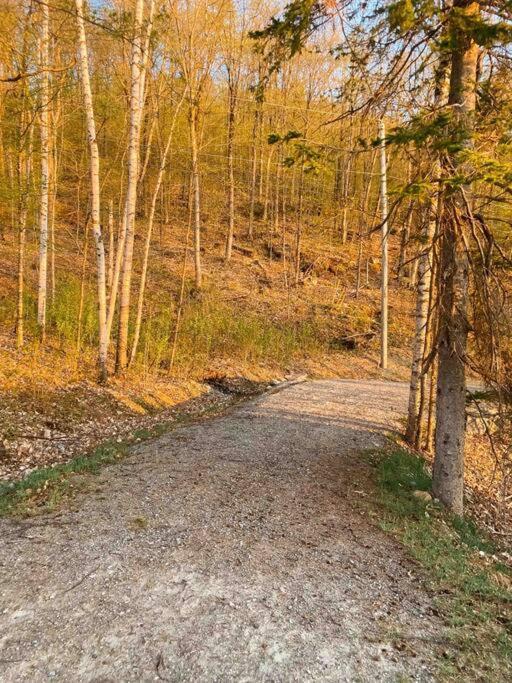
[[[0,680],[434,680],[429,596],[357,504],[405,401],[298,384],[137,446],[75,510],[2,521]]]

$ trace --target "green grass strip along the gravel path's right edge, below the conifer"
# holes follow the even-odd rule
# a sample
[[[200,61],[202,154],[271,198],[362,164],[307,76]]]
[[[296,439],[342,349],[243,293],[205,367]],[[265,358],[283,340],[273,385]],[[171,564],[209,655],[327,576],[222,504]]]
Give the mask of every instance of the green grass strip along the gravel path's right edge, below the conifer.
[[[372,455],[382,527],[422,565],[452,647],[445,680],[512,680],[512,572],[493,542],[467,519],[415,497],[428,491],[425,462],[394,449]]]

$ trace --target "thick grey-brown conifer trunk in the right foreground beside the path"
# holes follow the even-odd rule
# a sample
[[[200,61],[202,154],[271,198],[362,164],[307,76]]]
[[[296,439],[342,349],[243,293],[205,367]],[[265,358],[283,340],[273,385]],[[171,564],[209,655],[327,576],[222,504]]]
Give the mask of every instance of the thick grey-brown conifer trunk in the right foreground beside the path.
[[[468,25],[478,19],[480,5],[455,0],[450,13],[451,76],[448,104],[452,135],[472,146],[476,105],[478,46]],[[461,21],[461,17],[468,20]],[[464,173],[456,153],[448,159],[451,172]],[[466,408],[465,357],[468,336],[468,255],[464,245],[461,190],[448,191],[441,221],[439,277],[438,379],[433,492],[451,511],[462,514],[464,505],[464,440]]]

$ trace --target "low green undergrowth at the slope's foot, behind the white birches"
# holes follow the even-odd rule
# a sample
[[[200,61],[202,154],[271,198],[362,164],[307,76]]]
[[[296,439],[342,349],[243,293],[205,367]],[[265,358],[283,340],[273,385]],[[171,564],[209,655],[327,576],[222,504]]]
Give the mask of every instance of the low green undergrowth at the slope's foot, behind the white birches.
[[[173,294],[148,302],[143,317],[137,363],[146,367],[167,367],[177,318]],[[25,332],[37,339],[36,299],[25,296]],[[80,313],[81,311],[81,313]],[[78,319],[81,317],[80,326]],[[0,327],[14,327],[15,308],[0,301]],[[80,340],[77,330],[80,328]],[[113,329],[116,329],[114,320]],[[83,295],[78,279],[69,276],[59,281],[55,298],[49,304],[49,338],[68,351],[95,349],[98,342],[95,291],[91,285]],[[299,356],[314,356],[329,349],[332,331],[323,319],[286,319],[269,309],[254,311],[240,304],[223,301],[215,289],[205,289],[199,298],[191,291],[183,306],[175,367],[184,375],[192,369],[206,368],[212,360],[229,359],[245,364],[286,365]],[[134,316],[130,319],[130,339],[134,335]]]

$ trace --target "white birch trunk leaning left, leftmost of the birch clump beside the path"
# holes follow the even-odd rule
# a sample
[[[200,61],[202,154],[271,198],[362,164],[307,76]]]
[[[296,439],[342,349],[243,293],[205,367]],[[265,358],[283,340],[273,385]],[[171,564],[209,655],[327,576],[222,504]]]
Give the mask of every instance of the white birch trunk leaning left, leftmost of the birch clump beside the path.
[[[96,139],[96,121],[92,100],[91,81],[89,77],[89,61],[87,39],[84,26],[83,0],[75,0],[76,21],[78,27],[78,54],[80,79],[84,98],[85,116],[87,119],[87,138],[89,142],[90,176],[91,176],[91,222],[96,248],[96,277],[98,288],[98,366],[101,382],[107,380],[107,289],[105,273],[105,246],[101,230],[100,201],[100,157]]]

